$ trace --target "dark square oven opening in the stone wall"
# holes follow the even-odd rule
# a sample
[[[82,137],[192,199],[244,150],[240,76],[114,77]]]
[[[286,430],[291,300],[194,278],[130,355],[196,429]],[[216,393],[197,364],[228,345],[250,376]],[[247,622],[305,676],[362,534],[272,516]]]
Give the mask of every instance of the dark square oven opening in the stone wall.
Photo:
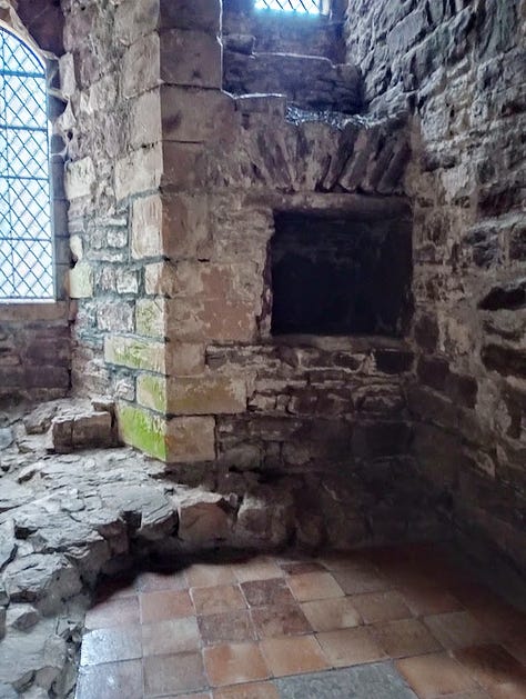
[[[279,212],[274,222],[273,336],[405,333],[412,310],[409,220]]]

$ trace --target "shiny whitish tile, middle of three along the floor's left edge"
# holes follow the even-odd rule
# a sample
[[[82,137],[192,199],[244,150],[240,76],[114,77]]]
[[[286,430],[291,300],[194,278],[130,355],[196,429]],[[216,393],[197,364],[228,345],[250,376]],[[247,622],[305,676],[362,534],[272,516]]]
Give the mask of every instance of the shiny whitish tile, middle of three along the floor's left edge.
[[[95,629],[82,637],[80,663],[85,666],[133,660],[140,658],[141,655],[141,628],[139,626]]]

